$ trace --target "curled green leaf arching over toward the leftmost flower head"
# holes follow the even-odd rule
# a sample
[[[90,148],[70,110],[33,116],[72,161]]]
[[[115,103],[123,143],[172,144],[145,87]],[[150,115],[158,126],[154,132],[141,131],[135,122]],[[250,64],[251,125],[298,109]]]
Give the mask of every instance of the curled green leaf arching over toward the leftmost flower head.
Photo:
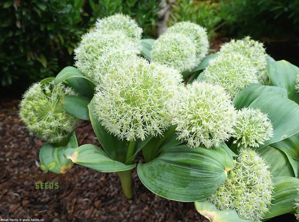
[[[78,69],[72,66],[63,68],[55,77],[54,83],[58,84],[65,80],[81,96],[92,98],[95,85]]]

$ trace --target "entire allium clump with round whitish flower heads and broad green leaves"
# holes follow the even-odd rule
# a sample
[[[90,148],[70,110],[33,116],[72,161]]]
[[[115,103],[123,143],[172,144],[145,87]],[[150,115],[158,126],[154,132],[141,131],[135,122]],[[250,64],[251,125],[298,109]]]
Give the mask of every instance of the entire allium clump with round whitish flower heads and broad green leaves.
[[[121,14],[97,20],[74,51],[77,69],[65,67],[54,81],[47,78],[25,92],[20,118],[30,135],[47,140],[41,163],[56,161],[58,173],[73,163],[116,172],[127,198],[133,197],[131,174],[138,164],[138,177],[149,190],[178,201],[208,198],[220,211],[204,211],[219,221],[238,221],[237,213],[257,220],[294,211],[288,195],[299,183],[290,176],[298,177],[293,86],[299,68],[268,60],[276,85],[264,86],[256,82],[268,84],[267,55],[249,37],[225,44],[215,60],[210,60],[215,55],[203,60],[208,41],[198,25],[178,23],[158,40],[140,41],[141,32]],[[138,55],[140,43],[142,55],[152,54],[153,60]],[[186,69],[193,71],[187,86],[181,75]],[[193,75],[206,80],[193,81]],[[91,121],[101,148],[78,145],[78,119]],[[138,152],[144,161],[135,161]],[[257,152],[272,165],[277,161],[271,173]],[[285,159],[279,159],[282,153]],[[276,203],[270,205],[272,196]],[[277,201],[286,207],[279,209]]]

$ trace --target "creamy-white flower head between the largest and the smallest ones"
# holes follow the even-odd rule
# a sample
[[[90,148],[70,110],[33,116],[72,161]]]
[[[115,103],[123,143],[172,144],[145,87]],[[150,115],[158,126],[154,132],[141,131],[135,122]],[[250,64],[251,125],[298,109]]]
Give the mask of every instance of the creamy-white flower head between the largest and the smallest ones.
[[[219,147],[228,140],[235,124],[236,111],[231,95],[220,85],[194,81],[181,89],[172,124],[178,124],[178,139],[190,147],[203,144]]]

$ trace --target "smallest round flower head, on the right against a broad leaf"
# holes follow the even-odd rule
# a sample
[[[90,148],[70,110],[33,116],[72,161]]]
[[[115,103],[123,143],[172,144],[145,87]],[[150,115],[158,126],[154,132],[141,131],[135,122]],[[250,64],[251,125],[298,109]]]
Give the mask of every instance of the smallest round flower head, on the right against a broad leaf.
[[[234,126],[233,143],[238,147],[258,147],[273,136],[273,126],[268,115],[259,109],[242,108],[237,113],[237,124]]]

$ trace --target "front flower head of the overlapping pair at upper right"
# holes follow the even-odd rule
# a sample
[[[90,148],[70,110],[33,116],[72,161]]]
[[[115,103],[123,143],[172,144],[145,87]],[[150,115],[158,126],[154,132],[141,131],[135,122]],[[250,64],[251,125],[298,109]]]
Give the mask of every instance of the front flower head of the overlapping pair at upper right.
[[[247,84],[258,83],[257,72],[254,63],[242,54],[220,54],[209,61],[204,78],[219,83],[234,97]]]

